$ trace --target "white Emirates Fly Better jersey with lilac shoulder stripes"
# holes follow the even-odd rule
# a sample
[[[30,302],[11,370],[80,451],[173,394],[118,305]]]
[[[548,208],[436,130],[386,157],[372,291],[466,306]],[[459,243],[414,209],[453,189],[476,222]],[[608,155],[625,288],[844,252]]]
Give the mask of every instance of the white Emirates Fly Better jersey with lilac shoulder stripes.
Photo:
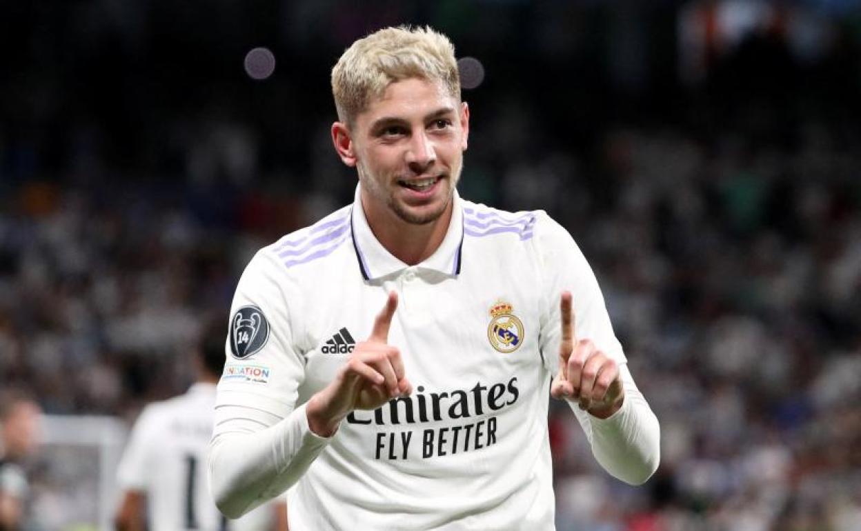
[[[388,343],[412,396],[354,411],[329,439],[313,434],[304,404],[369,336],[391,290]],[[604,468],[641,483],[657,466],[657,419],[561,225],[455,194],[443,243],[407,266],[375,239],[357,190],[353,205],[260,250],[239,281],[210,454],[221,509],[295,484],[291,529],[554,528],[548,389],[565,290],[578,337],[622,365],[626,386],[609,419],[574,413]]]

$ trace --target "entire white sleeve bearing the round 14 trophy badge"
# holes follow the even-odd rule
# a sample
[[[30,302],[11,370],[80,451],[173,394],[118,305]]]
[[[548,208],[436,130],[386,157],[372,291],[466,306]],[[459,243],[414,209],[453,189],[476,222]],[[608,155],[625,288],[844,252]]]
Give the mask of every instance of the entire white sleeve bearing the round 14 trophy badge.
[[[295,293],[283,268],[261,250],[233,298],[208,460],[210,488],[226,516],[286,491],[326,446],[308,429],[299,404],[305,359],[295,346],[302,330],[293,318],[301,314]]]

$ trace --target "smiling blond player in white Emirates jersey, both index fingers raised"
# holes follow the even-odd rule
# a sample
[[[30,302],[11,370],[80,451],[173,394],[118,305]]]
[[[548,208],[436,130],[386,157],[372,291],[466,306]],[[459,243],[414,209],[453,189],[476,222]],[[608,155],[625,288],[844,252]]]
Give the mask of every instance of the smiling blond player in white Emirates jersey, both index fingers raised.
[[[220,381],[219,508],[294,485],[297,529],[552,529],[548,387],[608,472],[645,481],[657,419],[572,238],[455,192],[469,108],[449,40],[381,30],[331,80],[356,201],[239,281],[228,367],[265,376]]]

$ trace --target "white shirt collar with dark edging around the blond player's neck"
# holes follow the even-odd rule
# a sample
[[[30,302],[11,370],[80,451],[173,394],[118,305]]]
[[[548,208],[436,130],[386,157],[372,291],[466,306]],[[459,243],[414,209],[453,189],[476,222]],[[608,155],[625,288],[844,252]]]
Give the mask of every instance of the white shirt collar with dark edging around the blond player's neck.
[[[361,186],[361,185],[360,185]],[[362,200],[356,186],[356,198],[353,201],[350,223],[352,226],[353,246],[362,278],[366,281],[392,275],[410,266],[401,262],[388,252],[371,232],[368,219],[362,209]],[[443,243],[424,262],[416,264],[416,269],[430,269],[443,275],[457,276],[461,273],[461,249],[463,247],[463,212],[461,196],[455,189],[454,208],[452,208],[449,229],[445,233]]]

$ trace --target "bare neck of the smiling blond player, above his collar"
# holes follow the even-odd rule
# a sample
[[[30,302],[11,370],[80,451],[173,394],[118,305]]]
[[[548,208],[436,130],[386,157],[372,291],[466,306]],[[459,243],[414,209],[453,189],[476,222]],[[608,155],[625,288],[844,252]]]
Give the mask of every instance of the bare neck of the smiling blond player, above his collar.
[[[400,219],[388,208],[382,212],[371,213],[362,198],[362,210],[377,241],[392,253],[392,256],[407,265],[424,261],[443,244],[445,234],[449,231],[454,204],[452,197],[439,218],[431,223],[416,225]]]

